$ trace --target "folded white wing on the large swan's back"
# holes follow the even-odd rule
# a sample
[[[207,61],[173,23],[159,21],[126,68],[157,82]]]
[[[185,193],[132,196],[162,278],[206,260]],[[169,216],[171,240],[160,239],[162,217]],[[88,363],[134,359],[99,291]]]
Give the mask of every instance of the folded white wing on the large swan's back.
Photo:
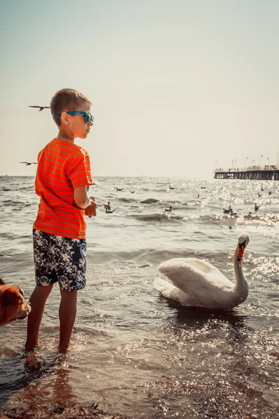
[[[205,297],[206,293],[210,293],[212,297],[215,297],[216,291],[231,291],[234,287],[234,284],[210,263],[204,260],[191,259],[192,265],[190,265],[185,260],[187,259],[175,258],[167,260],[159,265],[158,270],[174,286],[180,288],[181,291],[192,298]]]

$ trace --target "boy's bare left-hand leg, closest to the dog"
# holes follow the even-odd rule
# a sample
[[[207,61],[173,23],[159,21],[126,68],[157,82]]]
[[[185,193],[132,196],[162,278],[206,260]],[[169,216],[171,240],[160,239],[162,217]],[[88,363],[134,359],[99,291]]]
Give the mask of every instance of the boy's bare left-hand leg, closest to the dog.
[[[29,351],[38,346],[40,322],[42,321],[45,302],[50,295],[50,291],[52,291],[52,287],[53,284],[47,286],[36,285],[30,297],[31,312],[27,318],[27,341],[25,344],[25,348]]]

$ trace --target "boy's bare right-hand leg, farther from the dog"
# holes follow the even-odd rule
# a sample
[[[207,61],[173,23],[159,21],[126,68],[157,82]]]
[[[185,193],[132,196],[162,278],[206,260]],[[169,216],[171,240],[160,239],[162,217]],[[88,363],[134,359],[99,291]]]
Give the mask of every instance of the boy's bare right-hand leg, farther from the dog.
[[[77,314],[77,291],[62,291],[59,307],[60,340],[59,351],[65,353],[70,344],[70,337],[75,324]]]

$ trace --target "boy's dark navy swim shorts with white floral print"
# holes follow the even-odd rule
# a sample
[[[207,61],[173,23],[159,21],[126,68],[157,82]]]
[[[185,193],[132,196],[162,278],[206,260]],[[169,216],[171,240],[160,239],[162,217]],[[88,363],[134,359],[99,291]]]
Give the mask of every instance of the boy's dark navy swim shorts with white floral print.
[[[63,291],[78,291],[86,285],[86,240],[71,239],[33,229],[36,284],[59,282]]]

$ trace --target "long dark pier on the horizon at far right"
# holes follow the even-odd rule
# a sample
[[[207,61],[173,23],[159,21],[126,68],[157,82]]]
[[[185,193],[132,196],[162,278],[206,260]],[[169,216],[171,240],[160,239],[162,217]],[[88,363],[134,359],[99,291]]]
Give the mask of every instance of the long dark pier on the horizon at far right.
[[[279,180],[279,166],[216,169],[214,179]]]

